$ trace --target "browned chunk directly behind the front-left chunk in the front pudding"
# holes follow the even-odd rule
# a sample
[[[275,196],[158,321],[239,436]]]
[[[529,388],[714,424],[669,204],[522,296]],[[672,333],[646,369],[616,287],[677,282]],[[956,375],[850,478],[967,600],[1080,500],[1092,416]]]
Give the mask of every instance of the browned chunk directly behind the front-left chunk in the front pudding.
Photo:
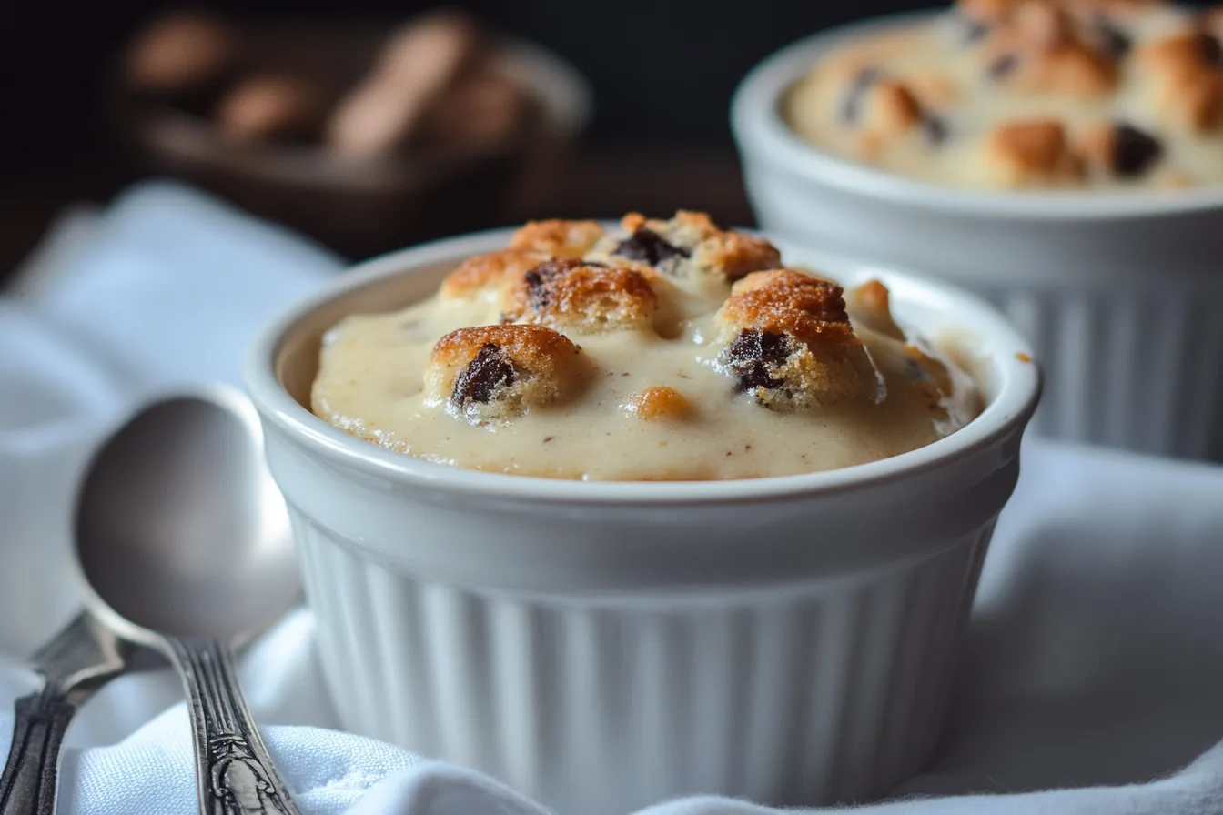
[[[503,319],[577,334],[648,327],[657,297],[634,269],[592,265],[577,258],[547,260],[506,288]]]

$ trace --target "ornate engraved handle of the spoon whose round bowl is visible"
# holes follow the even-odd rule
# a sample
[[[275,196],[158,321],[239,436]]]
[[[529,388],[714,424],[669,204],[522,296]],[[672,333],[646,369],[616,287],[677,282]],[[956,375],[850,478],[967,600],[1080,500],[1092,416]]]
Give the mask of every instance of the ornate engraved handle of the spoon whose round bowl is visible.
[[[297,815],[242,698],[234,651],[215,640],[166,638],[182,674],[203,815]]]

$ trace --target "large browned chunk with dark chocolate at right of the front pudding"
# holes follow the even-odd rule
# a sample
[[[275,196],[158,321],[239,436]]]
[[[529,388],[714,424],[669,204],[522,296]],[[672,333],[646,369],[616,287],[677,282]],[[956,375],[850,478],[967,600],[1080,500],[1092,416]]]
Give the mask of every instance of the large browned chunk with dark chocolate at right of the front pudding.
[[[718,321],[719,363],[737,390],[768,408],[829,407],[872,390],[878,396],[878,375],[830,281],[791,269],[751,274],[731,288]]]

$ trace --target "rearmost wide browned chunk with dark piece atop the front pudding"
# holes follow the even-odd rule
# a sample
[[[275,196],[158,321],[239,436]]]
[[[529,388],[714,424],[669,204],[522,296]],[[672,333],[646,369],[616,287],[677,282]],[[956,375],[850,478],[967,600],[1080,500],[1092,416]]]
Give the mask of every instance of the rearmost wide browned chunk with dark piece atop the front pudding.
[[[781,254],[768,241],[719,228],[704,213],[680,210],[670,220],[630,213],[618,233],[604,236],[587,260],[647,269],[687,280],[733,281],[775,268]]]

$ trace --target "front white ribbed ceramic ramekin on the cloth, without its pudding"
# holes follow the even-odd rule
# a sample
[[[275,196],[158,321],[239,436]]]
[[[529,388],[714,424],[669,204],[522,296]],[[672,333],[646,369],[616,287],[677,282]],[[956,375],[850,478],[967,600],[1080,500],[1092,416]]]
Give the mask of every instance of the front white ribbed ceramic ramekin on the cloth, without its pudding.
[[[328,326],[418,299],[508,237],[363,264],[249,357],[345,727],[483,770],[561,815],[696,792],[826,803],[890,789],[939,733],[1019,473],[1040,391],[1026,342],[971,296],[881,275],[901,319],[954,331],[980,359],[988,407],[928,447],[786,478],[477,473],[303,407]]]

